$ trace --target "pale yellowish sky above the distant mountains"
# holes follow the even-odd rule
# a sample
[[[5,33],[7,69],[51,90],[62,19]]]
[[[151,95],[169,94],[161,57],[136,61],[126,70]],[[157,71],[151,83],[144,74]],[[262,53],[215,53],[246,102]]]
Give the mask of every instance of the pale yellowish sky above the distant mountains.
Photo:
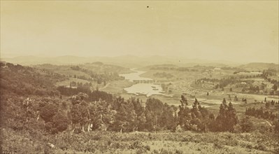
[[[1,57],[21,55],[278,63],[278,1],[1,1]]]

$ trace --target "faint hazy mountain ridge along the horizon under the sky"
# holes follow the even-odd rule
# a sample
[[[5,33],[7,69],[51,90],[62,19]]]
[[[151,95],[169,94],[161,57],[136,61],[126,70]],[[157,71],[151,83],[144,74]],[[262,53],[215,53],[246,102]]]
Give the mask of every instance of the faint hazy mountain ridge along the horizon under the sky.
[[[198,64],[206,66],[240,66],[243,68],[257,68],[255,64],[263,64],[260,68],[269,67],[268,63],[249,63],[249,64],[238,64],[236,62],[228,62],[225,60],[206,60],[206,59],[187,59],[187,57],[168,57],[161,55],[138,57],[135,55],[123,55],[117,57],[78,57],[72,55],[64,55],[59,57],[36,57],[36,56],[20,56],[13,58],[1,58],[1,61],[12,62],[14,64],[32,65],[32,64],[84,64],[87,62],[104,62],[106,64],[114,64],[124,67],[141,67],[155,64],[175,64],[177,66],[195,66]],[[274,68],[278,64],[270,66]]]

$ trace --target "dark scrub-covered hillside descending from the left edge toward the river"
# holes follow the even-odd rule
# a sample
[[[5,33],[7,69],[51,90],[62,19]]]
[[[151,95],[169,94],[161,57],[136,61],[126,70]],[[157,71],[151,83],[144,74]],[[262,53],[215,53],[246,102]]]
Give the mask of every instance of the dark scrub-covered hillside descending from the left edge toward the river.
[[[20,95],[59,95],[52,85],[64,80],[64,77],[57,73],[45,73],[29,66],[4,62],[1,62],[0,74],[1,92],[13,92]]]

